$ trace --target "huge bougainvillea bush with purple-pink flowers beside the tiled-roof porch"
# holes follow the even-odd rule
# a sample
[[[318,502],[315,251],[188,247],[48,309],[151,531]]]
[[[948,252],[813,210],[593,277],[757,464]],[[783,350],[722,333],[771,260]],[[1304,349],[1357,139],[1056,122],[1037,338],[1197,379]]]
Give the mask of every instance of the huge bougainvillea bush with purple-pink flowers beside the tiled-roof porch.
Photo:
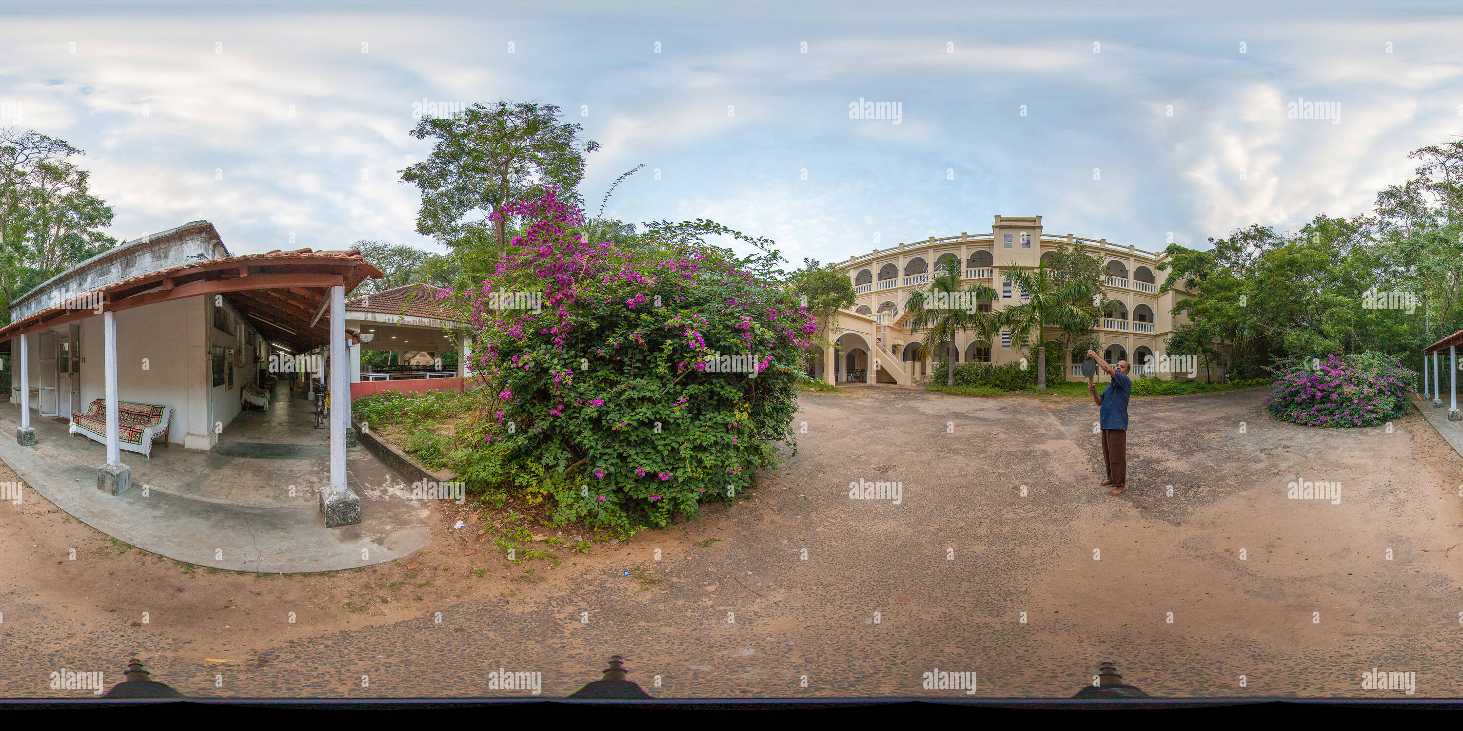
[[[632,534],[734,499],[778,443],[796,449],[815,322],[777,285],[775,254],[584,241],[571,232],[579,211],[553,192],[505,213],[528,222],[524,235],[454,295],[496,396],[452,461],[470,481],[511,481],[560,520]]]

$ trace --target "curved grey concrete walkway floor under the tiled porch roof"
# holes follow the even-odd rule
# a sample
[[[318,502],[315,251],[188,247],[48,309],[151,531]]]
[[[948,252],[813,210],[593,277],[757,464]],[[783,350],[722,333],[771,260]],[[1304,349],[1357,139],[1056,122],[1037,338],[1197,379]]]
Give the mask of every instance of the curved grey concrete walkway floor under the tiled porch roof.
[[[97,490],[105,447],[67,425],[31,414],[37,444],[16,444],[19,406],[0,404],[0,459],[35,491],[86,525],[168,558],[262,573],[354,569],[408,556],[432,542],[429,507],[369,452],[347,458],[361,523],[329,529],[317,490],[328,487],[328,439],[310,404],[281,382],[265,414],[241,414],[208,452],[154,447],[123,452],[133,487]]]

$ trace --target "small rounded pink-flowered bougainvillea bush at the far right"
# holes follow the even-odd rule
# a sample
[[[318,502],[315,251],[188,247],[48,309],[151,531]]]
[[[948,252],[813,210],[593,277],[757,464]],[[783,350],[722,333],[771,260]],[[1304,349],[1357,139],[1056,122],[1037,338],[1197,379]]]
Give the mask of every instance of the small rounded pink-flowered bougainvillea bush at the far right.
[[[1306,427],[1372,427],[1407,412],[1416,373],[1399,355],[1366,352],[1289,358],[1274,368],[1270,415]]]

